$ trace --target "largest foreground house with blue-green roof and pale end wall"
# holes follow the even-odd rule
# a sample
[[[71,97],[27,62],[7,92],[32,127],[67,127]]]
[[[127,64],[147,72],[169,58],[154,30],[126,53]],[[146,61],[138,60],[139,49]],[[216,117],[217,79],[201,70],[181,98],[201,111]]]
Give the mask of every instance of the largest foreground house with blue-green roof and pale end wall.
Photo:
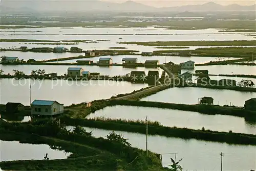
[[[64,105],[57,101],[34,100],[31,115],[53,116],[64,112]]]

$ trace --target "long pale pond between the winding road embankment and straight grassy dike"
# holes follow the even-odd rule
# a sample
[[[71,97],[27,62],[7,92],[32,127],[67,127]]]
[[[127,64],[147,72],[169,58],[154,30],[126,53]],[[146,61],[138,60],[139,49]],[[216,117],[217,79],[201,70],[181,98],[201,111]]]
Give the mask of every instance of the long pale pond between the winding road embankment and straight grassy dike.
[[[106,107],[90,114],[87,118],[104,117],[111,119],[145,120],[146,116],[151,121],[159,121],[167,127],[202,129],[212,131],[232,131],[237,133],[255,134],[256,125],[247,124],[243,117],[228,115],[206,115],[198,112],[135,107],[113,106]]]

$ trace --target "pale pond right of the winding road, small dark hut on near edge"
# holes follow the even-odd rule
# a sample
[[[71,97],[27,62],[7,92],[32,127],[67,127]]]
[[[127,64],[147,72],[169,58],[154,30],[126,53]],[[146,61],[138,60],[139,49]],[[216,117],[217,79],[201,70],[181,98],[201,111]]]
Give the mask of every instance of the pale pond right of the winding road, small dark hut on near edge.
[[[215,105],[223,106],[231,104],[234,106],[243,107],[245,101],[256,96],[256,92],[242,92],[234,90],[209,89],[197,87],[174,87],[147,96],[141,99],[141,101],[194,105],[198,104],[198,98],[204,96],[214,98]]]

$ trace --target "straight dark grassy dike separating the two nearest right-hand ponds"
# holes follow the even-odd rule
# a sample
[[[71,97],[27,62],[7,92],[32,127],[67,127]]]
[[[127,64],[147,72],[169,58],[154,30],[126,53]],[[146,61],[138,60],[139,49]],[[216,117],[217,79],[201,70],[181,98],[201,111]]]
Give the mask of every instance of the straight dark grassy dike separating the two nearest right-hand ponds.
[[[140,134],[145,134],[145,123],[134,123],[123,120],[88,120],[88,119],[69,119],[62,118],[67,125],[81,125],[84,127],[100,128],[107,130],[118,130],[126,132],[135,132]],[[230,144],[256,144],[256,136],[249,134],[240,133],[227,133],[227,132],[217,132],[209,130],[193,130],[187,128],[170,128],[157,125],[148,125],[149,135],[162,135],[166,137],[177,137],[183,139],[198,139],[213,142],[226,142]]]

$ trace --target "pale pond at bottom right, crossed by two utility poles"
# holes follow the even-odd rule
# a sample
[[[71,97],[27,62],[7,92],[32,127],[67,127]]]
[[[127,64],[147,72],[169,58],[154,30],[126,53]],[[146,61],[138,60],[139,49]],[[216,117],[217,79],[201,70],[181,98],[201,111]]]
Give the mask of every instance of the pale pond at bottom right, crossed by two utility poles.
[[[93,128],[86,128],[86,130],[92,131],[95,137],[103,138],[111,132],[111,130]],[[144,134],[115,132],[122,134],[124,138],[128,138],[133,147],[146,150],[146,136]],[[225,155],[223,158],[223,170],[250,170],[256,168],[256,146],[252,145],[230,145],[195,139],[184,140],[181,138],[149,135],[148,150],[157,154],[178,153],[177,160],[183,158],[180,162],[183,170],[220,170],[219,154],[221,152]],[[175,158],[175,155],[162,155],[163,166],[167,167],[169,164],[172,164],[170,157]]]

